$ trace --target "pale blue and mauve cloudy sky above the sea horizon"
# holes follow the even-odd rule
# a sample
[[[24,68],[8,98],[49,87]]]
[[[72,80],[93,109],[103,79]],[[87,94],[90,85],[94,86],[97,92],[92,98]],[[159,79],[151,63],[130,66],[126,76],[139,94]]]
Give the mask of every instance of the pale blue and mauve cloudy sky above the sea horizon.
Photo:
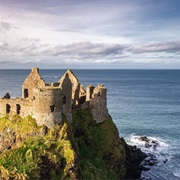
[[[0,69],[179,69],[180,0],[0,0]]]

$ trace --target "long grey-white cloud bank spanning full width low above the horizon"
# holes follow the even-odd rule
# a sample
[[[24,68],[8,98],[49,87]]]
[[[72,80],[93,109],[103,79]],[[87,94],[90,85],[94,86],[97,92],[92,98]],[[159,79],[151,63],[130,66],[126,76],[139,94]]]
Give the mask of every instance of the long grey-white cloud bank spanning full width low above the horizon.
[[[40,39],[21,39],[19,46],[0,42],[2,57],[22,63],[116,64],[123,62],[178,62],[180,41],[146,44],[80,42],[52,46]],[[176,55],[174,53],[177,52]],[[0,60],[1,61],[1,60]]]

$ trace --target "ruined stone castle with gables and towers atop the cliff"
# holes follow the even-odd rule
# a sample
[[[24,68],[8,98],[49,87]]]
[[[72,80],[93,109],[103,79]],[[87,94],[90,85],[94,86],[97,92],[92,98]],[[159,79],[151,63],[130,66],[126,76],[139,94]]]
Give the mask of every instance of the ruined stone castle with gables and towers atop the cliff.
[[[38,68],[33,68],[22,86],[22,98],[10,98],[7,93],[0,98],[0,117],[9,114],[12,117],[31,115],[38,125],[52,127],[59,123],[62,114],[72,121],[72,109],[90,108],[94,120],[102,122],[108,118],[107,89],[103,85],[89,85],[85,91],[71,70],[58,82],[45,82]]]

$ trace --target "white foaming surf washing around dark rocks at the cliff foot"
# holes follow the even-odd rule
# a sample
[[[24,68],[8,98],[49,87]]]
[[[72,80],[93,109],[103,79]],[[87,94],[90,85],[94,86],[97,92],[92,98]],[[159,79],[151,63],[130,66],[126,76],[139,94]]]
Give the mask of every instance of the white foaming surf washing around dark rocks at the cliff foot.
[[[142,166],[148,171],[142,172],[142,180],[179,180],[179,151],[168,139],[160,137],[131,134],[126,138],[128,144],[137,146],[148,156],[142,162]],[[175,149],[174,149],[175,148]],[[178,157],[176,157],[178,156]]]

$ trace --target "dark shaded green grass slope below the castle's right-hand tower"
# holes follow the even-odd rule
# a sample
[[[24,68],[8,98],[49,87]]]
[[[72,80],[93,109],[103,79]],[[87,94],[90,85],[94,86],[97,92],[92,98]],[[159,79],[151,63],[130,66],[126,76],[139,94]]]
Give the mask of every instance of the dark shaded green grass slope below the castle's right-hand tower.
[[[95,123],[89,110],[76,110],[73,112],[72,125],[79,144],[83,177],[87,179],[123,177],[126,171],[125,151],[112,119]]]

